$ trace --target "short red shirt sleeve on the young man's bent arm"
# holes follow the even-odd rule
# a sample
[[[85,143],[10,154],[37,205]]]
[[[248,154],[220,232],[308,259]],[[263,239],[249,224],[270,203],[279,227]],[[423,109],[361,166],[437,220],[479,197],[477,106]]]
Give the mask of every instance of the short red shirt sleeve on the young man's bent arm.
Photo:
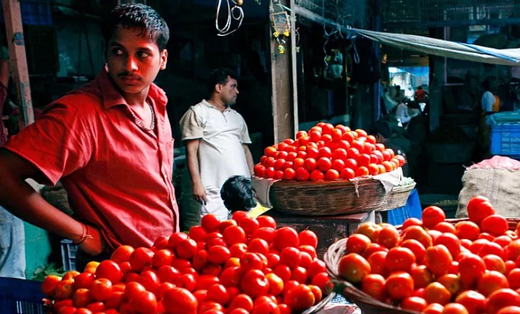
[[[45,113],[4,146],[34,164],[55,185],[90,159],[92,132],[75,106],[50,104]]]

